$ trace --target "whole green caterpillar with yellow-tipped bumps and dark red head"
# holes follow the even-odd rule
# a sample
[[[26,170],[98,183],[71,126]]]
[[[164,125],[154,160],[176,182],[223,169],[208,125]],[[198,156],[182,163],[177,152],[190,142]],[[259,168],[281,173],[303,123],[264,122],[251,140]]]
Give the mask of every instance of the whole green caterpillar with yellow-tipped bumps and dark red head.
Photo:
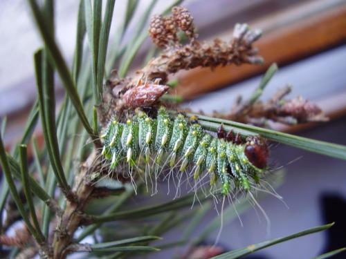
[[[223,195],[234,187],[251,190],[267,168],[268,148],[259,137],[244,142],[240,135],[225,133],[223,128],[214,137],[197,118],[182,114],[172,118],[164,107],[158,108],[156,118],[136,110],[126,123],[115,119],[102,137],[102,155],[111,170],[124,165],[131,172],[140,166],[161,166],[178,175],[187,172],[196,182],[204,175],[212,187],[219,182]]]

